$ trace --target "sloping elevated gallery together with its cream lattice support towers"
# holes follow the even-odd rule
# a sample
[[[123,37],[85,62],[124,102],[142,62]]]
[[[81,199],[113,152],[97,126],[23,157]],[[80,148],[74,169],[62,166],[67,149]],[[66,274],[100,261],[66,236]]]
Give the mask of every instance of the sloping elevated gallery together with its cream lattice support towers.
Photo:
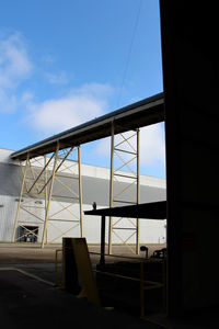
[[[16,237],[16,231],[19,225],[21,227],[23,226],[23,229],[25,225],[31,224],[30,218],[27,218],[27,223],[22,218],[21,212],[27,216],[31,216],[32,219],[35,220],[35,225],[38,226],[38,230],[41,229],[43,231],[43,238],[42,238],[42,247],[44,247],[44,243],[47,243],[49,239],[49,227],[53,227],[55,229],[55,226],[59,222],[72,222],[74,220],[74,228],[80,226],[80,236],[83,236],[83,225],[82,225],[82,192],[81,192],[81,169],[80,169],[80,147],[79,145],[90,143],[93,140],[97,140],[105,137],[112,136],[112,151],[111,151],[111,198],[110,198],[110,205],[123,205],[127,204],[138,204],[139,203],[139,132],[138,129],[143,126],[148,126],[151,124],[155,124],[159,122],[164,121],[164,95],[163,93],[155,94],[153,97],[150,97],[148,99],[141,100],[139,102],[132,103],[128,106],[118,109],[114,112],[111,112],[108,114],[105,114],[103,116],[100,116],[95,120],[92,120],[90,122],[87,122],[84,124],[81,124],[79,126],[72,127],[68,131],[65,131],[60,134],[54,135],[49,138],[46,138],[42,141],[38,141],[36,144],[33,144],[31,146],[27,146],[21,150],[18,150],[11,155],[12,160],[20,161],[22,172],[23,172],[23,180],[22,180],[22,186],[21,186],[21,193],[19,197],[19,205],[18,205],[18,212],[15,216],[15,223],[13,228],[13,236],[12,241],[21,240]],[[125,137],[127,132],[135,131],[137,134],[137,146],[135,149],[120,149],[122,144],[115,144],[115,135],[117,136],[120,134],[122,139],[124,139],[124,144],[126,143],[130,147],[130,139],[129,137]],[[117,148],[117,149],[116,149]],[[74,190],[71,191],[71,188],[69,188],[67,182],[64,182],[64,178],[61,179],[61,182],[59,182],[59,188],[62,185],[66,186],[66,191],[68,193],[71,193],[70,197],[69,195],[66,195],[65,193],[59,195],[54,193],[57,184],[56,182],[59,179],[60,174],[60,167],[64,167],[65,160],[69,157],[70,152],[72,150],[78,150],[78,159],[76,160],[76,164],[78,163],[78,173],[74,174],[74,182],[77,184],[78,182],[78,191]],[[46,157],[47,155],[47,157]],[[125,159],[123,161],[123,164],[118,167],[117,169],[114,169],[114,155],[120,157],[122,159]],[[127,160],[127,157],[132,156],[132,159],[129,161]],[[41,160],[38,157],[42,157]],[[43,159],[43,160],[42,160]],[[137,169],[135,172],[130,170],[130,162],[132,163],[134,159],[136,159]],[[44,161],[44,162],[43,162]],[[37,163],[37,164],[36,164]],[[39,166],[41,163],[41,166]],[[35,166],[37,167],[37,170],[35,172]],[[122,169],[126,167],[127,172],[120,172]],[[62,175],[66,173],[62,173]],[[69,174],[68,174],[69,175]],[[120,202],[118,203],[117,196],[114,195],[116,183],[119,183],[118,181],[125,180],[126,183],[129,181],[130,189],[135,185],[136,193],[135,198],[131,196],[129,198],[126,197],[126,200],[120,198]],[[72,180],[71,180],[72,181]],[[115,185],[115,186],[114,186]],[[127,184],[128,185],[128,184]],[[123,191],[122,194],[125,194],[130,191],[130,189],[127,186]],[[70,192],[71,191],[71,192]],[[116,192],[117,194],[117,192]],[[66,197],[68,196],[68,197]],[[67,203],[61,204],[60,200],[62,197],[62,201],[66,198],[69,198],[69,201],[74,201],[74,203],[79,204],[79,216],[71,214],[73,216],[72,220],[68,220],[65,218],[60,218],[61,209],[68,213],[72,213],[68,206],[66,206]],[[58,202],[60,204],[59,211],[57,211],[54,216],[51,213],[51,200]],[[30,202],[28,202],[30,201]],[[36,206],[36,204],[38,206]],[[39,206],[41,204],[41,206]],[[54,202],[53,202],[54,206]],[[35,208],[35,212],[32,209]],[[37,213],[38,212],[38,213]],[[56,218],[55,216],[58,215],[59,217]],[[23,222],[22,222],[23,220]],[[33,222],[34,222],[33,220]],[[123,237],[120,237],[119,227],[114,225],[114,220],[110,219],[110,234],[108,234],[108,240],[110,240],[110,252],[112,250],[112,234],[117,234],[117,237],[119,237],[120,241],[123,243],[127,243],[130,238],[136,234],[136,251],[138,253],[139,251],[139,222],[138,219],[135,223],[128,223],[128,225],[131,225],[131,229],[128,230],[128,226],[126,227],[127,231],[131,231],[131,236],[127,237],[125,240]],[[118,223],[118,226],[120,222]],[[35,226],[36,227],[36,226]],[[30,230],[30,231],[28,231]],[[30,234],[32,234],[34,237],[38,237],[38,230],[36,229],[30,229],[27,228],[26,231],[24,231],[24,237],[26,237]],[[62,236],[64,231],[61,228],[58,228],[59,230],[59,237]],[[66,230],[66,232],[70,231],[70,228]]]

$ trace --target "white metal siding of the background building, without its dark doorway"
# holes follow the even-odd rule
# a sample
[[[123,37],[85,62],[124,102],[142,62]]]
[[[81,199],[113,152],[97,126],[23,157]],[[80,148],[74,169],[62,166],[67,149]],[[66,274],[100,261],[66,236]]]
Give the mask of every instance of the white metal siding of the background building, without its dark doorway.
[[[16,166],[9,160],[9,150],[0,149],[0,241],[11,241],[13,225],[15,220],[19,186],[21,184],[21,172]],[[15,164],[15,163],[14,163]],[[83,168],[84,167],[84,168]],[[84,169],[84,171],[83,171]],[[85,172],[85,175],[83,175]],[[108,169],[82,164],[82,183],[83,183],[83,211],[92,208],[92,202],[97,203],[97,208],[108,206]],[[95,182],[95,183],[94,183]],[[141,202],[165,200],[165,180],[143,177],[141,182]],[[25,200],[24,200],[25,202]],[[41,204],[41,208],[30,208],[32,212],[42,219],[44,219],[44,201]],[[67,203],[65,203],[67,204]],[[33,201],[30,206],[35,205]],[[38,205],[37,205],[38,206]],[[60,205],[53,201],[50,204],[50,216],[59,209]],[[79,217],[79,206],[76,205],[74,213]],[[78,208],[77,208],[78,207]],[[68,212],[56,215],[55,218],[71,219],[71,215]],[[33,223],[33,218],[24,211],[20,212],[20,218],[28,223]],[[135,220],[135,219],[131,219]],[[39,227],[39,239],[43,232],[43,223],[39,224],[37,219],[35,225]],[[69,223],[56,222],[54,227],[49,222],[48,238],[53,240],[55,237],[60,236],[60,230],[65,231],[69,229]],[[123,226],[123,222],[120,223]],[[106,220],[106,237],[108,230],[108,220]],[[89,243],[100,243],[101,239],[101,218],[95,216],[83,216],[83,232]],[[79,236],[79,227],[73,230],[69,230],[67,236]],[[119,230],[119,236],[126,239],[127,231]],[[165,220],[153,219],[140,219],[140,243],[159,243],[165,241]],[[55,242],[61,242],[61,237]],[[115,235],[113,235],[113,243],[120,243]],[[135,243],[135,236],[128,241]]]

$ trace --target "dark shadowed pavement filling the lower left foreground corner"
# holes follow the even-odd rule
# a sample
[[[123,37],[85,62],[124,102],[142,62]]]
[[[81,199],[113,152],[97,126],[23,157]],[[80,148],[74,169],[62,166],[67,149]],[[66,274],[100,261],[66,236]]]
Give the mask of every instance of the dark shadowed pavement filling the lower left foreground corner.
[[[2,328],[148,328],[145,321],[106,310],[15,270],[0,271]]]

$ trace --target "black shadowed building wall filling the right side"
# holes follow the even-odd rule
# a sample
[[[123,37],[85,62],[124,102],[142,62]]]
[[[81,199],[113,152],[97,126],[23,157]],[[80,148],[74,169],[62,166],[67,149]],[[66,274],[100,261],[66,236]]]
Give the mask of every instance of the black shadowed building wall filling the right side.
[[[172,328],[178,328],[177,321],[183,321],[182,328],[215,328],[212,320],[218,321],[216,5],[160,1],[166,145],[166,313],[176,321],[175,326],[171,322]],[[1,211],[7,209],[7,215],[15,213],[15,207],[4,207],[2,202]]]

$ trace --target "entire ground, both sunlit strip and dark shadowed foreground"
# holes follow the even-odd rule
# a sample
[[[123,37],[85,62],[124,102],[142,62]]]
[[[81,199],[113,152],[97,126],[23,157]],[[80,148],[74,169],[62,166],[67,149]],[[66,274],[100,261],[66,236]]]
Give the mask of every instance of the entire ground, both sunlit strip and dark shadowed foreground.
[[[115,309],[106,310],[55,287],[55,253],[60,249],[59,245],[41,249],[37,245],[0,243],[1,325],[5,328],[38,328],[42,325],[60,328],[76,324],[80,328],[163,328]],[[89,246],[89,249],[100,252],[100,246]],[[151,252],[154,249],[157,247],[152,246]],[[134,256],[126,247],[117,246],[114,252],[126,257]],[[139,257],[145,257],[145,253]],[[92,254],[91,259],[96,263],[100,256]],[[60,283],[61,252],[58,260]]]

